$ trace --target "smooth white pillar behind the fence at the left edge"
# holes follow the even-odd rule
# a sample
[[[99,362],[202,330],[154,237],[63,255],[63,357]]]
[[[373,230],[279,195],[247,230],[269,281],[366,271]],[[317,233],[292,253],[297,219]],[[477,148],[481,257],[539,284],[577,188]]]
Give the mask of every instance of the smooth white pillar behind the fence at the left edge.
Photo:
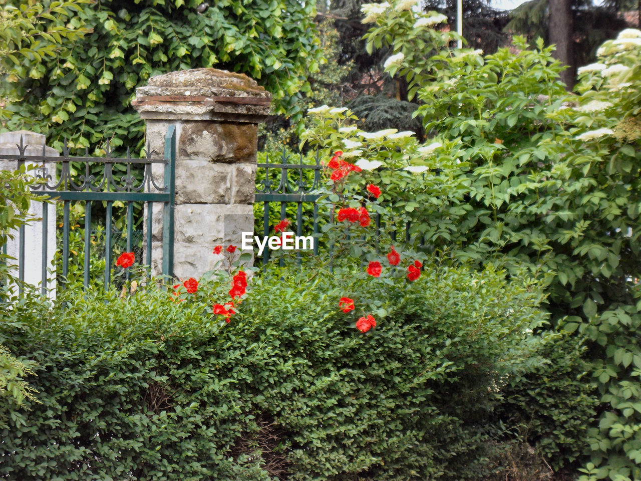
[[[21,143],[22,140],[22,143]],[[41,133],[29,132],[27,130],[19,130],[15,132],[0,133],[0,154],[1,155],[15,155],[16,158],[20,156],[18,146],[26,146],[24,151],[25,156],[38,155],[57,157],[60,155],[56,149],[52,149],[45,145],[45,136]],[[25,162],[26,165],[35,164],[35,162]],[[17,160],[0,160],[0,169],[15,171],[18,169]],[[53,180],[56,178],[56,166],[53,162],[46,162],[38,165],[38,170],[29,171],[31,175],[44,176],[50,175]],[[42,219],[42,203],[31,202],[29,207],[29,216]],[[15,259],[19,258],[19,235],[14,232],[15,239],[9,240],[7,244],[7,254]],[[53,260],[54,253],[56,252],[56,204],[49,204],[47,206],[47,255],[46,266],[47,275],[52,280],[47,284],[47,292],[50,297],[55,296],[56,283],[55,283],[55,269],[51,261]],[[42,282],[42,221],[33,221],[27,224],[24,228],[24,280],[31,285],[40,285]],[[15,262],[17,264],[17,261]],[[53,272],[49,272],[49,271]],[[11,274],[15,277],[18,276],[18,271],[12,271]]]

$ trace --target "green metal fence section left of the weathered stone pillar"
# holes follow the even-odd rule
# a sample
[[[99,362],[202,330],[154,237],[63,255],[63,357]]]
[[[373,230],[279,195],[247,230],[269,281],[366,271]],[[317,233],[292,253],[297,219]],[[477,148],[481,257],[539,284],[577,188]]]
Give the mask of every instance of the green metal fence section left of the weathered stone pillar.
[[[70,149],[63,148],[62,155],[54,156],[27,156],[24,155],[27,146],[17,145],[18,155],[0,155],[0,160],[17,161],[20,165],[37,164],[44,171],[44,165],[55,165],[54,176],[37,174],[36,177],[44,179],[43,183],[36,185],[33,192],[46,196],[53,201],[62,203],[62,284],[69,274],[69,236],[70,236],[70,211],[72,203],[81,203],[84,207],[84,272],[83,284],[85,289],[89,283],[89,267],[91,258],[91,226],[92,205],[104,203],[104,287],[108,289],[112,283],[111,269],[113,267],[113,205],[116,202],[126,205],[126,251],[133,251],[133,233],[135,224],[141,219],[135,219],[135,205],[142,205],[144,212],[144,225],[146,226],[146,252],[144,264],[151,266],[152,262],[152,219],[154,205],[162,208],[162,274],[172,277],[174,262],[174,196],[176,172],[176,128],[170,126],[165,136],[165,153],[162,159],[150,158],[147,148],[147,158],[115,158],[109,144],[106,146],[104,157],[90,157],[85,151],[85,156],[71,156]],[[154,179],[153,166],[161,165],[163,172],[163,185],[158,185]],[[96,169],[96,167],[99,169]],[[96,170],[99,172],[96,174]],[[135,173],[138,171],[138,175]],[[142,175],[140,174],[142,171]],[[75,173],[75,174],[72,174]],[[55,177],[55,178],[54,178]],[[52,203],[42,203],[42,266],[41,290],[46,294],[51,279],[47,276],[47,223],[50,210],[54,209]],[[96,219],[100,220],[100,219]],[[18,264],[17,277],[24,281],[25,270],[25,228],[20,228],[18,239]],[[58,246],[56,246],[58,247]],[[6,246],[3,246],[6,253]]]

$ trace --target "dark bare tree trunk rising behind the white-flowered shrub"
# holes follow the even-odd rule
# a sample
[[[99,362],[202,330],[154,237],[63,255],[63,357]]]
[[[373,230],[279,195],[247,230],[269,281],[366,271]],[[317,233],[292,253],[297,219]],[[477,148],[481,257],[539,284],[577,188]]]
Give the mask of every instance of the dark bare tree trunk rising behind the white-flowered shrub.
[[[566,85],[567,90],[574,87],[574,56],[572,38],[572,11],[570,9],[570,0],[548,0],[550,10],[550,38],[551,44],[556,44],[556,51],[552,54],[554,58],[560,60],[567,69],[561,72],[561,80]]]

